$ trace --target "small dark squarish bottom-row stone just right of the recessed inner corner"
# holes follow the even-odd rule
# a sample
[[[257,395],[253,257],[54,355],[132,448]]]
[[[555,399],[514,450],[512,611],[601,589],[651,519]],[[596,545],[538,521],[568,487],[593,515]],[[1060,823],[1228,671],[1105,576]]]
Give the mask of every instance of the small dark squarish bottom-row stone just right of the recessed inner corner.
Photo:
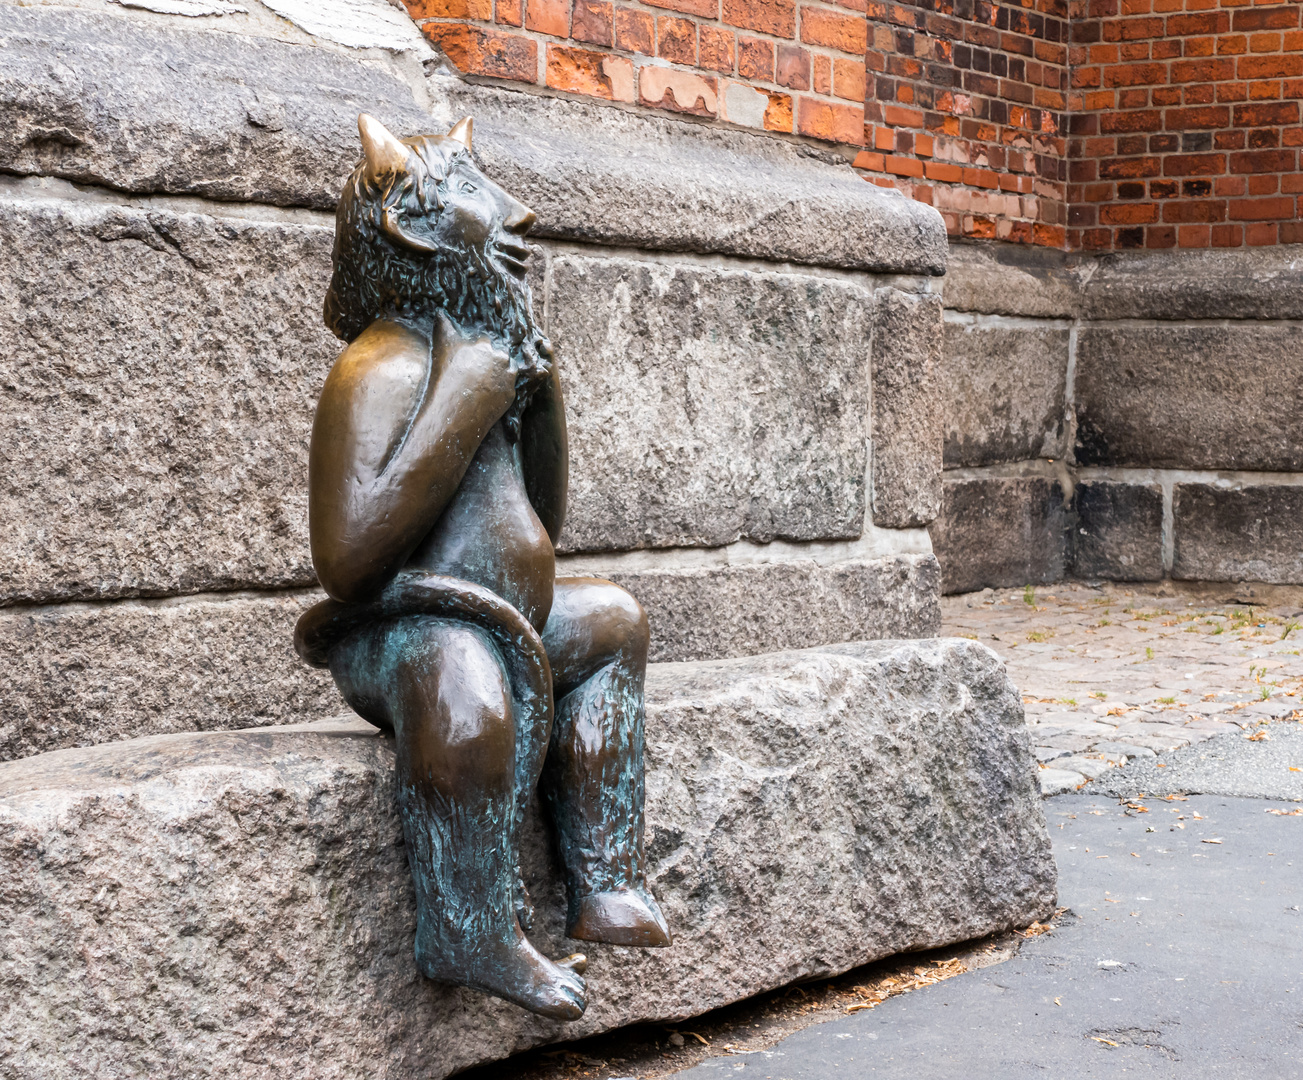
[[[1078,481],[1072,491],[1072,573],[1109,581],[1162,578],[1162,489]]]

